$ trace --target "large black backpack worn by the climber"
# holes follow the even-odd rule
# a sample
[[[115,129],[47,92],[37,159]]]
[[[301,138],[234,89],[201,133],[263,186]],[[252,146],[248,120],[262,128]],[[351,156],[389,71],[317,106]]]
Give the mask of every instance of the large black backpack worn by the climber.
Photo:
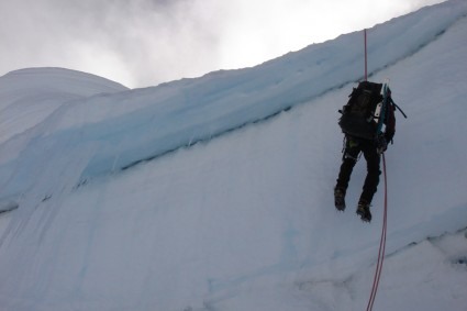
[[[385,111],[382,105],[391,102],[388,98],[383,100],[382,89],[382,84],[369,81],[362,81],[357,88],[353,89],[348,96],[347,104],[340,110],[342,116],[338,120],[338,125],[342,132],[365,140],[377,137],[382,123],[379,122],[379,119],[383,118],[383,115],[380,115]]]

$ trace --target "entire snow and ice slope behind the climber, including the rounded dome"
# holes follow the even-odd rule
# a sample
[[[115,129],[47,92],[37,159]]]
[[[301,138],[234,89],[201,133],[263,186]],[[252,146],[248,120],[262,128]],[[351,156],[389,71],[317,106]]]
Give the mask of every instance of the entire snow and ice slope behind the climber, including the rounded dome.
[[[368,31],[391,79],[376,310],[467,308],[467,3]],[[0,310],[364,310],[382,221],[333,207],[337,110],[363,35],[146,89],[59,68],[0,77]],[[14,204],[13,204],[14,206]]]

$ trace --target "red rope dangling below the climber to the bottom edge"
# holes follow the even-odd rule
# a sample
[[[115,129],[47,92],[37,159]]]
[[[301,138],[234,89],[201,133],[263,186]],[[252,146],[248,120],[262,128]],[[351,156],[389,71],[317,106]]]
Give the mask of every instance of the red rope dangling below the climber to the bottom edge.
[[[379,279],[381,278],[382,262],[385,260],[385,252],[386,252],[386,231],[388,226],[388,180],[386,176],[385,154],[382,154],[382,171],[385,176],[385,211],[382,216],[382,232],[381,232],[381,240],[379,242],[378,263],[376,265],[375,278],[373,280],[373,289],[371,289],[371,295],[368,301],[367,311],[371,311],[373,304],[375,303],[376,292],[378,291]]]

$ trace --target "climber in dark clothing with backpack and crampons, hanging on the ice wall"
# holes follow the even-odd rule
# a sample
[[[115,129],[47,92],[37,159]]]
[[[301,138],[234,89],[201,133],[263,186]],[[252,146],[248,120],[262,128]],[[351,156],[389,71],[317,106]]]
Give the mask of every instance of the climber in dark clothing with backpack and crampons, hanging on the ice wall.
[[[338,124],[344,133],[342,165],[334,188],[335,208],[345,210],[345,195],[351,175],[360,154],[367,165],[367,176],[357,204],[364,222],[371,221],[369,210],[379,184],[380,157],[396,133],[396,103],[387,85],[363,81],[354,88],[348,103],[340,110]],[[385,131],[382,132],[382,125]]]

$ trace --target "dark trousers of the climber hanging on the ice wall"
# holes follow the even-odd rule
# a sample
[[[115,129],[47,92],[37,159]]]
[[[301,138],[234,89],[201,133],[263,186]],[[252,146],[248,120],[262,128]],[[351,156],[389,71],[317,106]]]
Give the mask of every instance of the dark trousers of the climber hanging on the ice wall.
[[[351,180],[352,170],[357,163],[360,152],[364,154],[367,163],[367,176],[365,178],[360,201],[364,200],[367,203],[370,203],[373,196],[376,193],[378,188],[379,175],[381,174],[379,170],[380,156],[373,141],[359,140],[351,136],[346,137],[345,151],[341,171],[337,177],[336,188],[341,188],[345,193],[348,187],[348,181]]]

